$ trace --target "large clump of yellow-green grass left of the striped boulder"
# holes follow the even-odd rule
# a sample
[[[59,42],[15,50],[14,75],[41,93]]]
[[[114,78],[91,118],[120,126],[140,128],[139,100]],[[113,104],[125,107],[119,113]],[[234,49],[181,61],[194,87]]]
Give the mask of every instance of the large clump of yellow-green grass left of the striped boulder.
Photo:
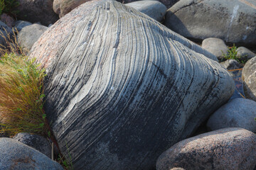
[[[0,58],[1,132],[46,135],[43,78],[46,73],[33,60],[6,53]]]

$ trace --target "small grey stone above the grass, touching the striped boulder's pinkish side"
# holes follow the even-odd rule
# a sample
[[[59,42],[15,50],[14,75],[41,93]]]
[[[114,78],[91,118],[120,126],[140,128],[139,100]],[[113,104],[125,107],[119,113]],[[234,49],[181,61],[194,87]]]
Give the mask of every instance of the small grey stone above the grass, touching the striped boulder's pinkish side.
[[[24,27],[18,33],[18,44],[21,45],[24,52],[28,53],[33,44],[47,29],[48,27],[39,25],[37,23]]]

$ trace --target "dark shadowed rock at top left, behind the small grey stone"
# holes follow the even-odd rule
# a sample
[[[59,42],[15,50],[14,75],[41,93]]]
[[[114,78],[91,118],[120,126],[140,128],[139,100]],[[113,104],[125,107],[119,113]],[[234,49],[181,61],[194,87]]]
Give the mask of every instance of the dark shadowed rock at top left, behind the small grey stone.
[[[55,23],[58,15],[53,11],[53,0],[18,0],[18,19],[45,26]]]

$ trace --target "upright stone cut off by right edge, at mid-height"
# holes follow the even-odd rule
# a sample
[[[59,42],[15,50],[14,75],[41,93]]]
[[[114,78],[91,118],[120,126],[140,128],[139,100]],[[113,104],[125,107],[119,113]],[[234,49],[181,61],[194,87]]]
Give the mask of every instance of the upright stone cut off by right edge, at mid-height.
[[[246,62],[242,69],[242,80],[246,98],[256,101],[256,57]]]

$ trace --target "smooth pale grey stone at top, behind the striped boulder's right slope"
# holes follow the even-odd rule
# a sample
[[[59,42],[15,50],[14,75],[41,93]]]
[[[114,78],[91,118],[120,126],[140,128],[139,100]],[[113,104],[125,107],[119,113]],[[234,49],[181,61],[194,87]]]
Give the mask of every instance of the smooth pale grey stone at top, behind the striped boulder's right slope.
[[[134,1],[125,5],[135,8],[159,22],[164,19],[167,10],[166,6],[159,1]]]

